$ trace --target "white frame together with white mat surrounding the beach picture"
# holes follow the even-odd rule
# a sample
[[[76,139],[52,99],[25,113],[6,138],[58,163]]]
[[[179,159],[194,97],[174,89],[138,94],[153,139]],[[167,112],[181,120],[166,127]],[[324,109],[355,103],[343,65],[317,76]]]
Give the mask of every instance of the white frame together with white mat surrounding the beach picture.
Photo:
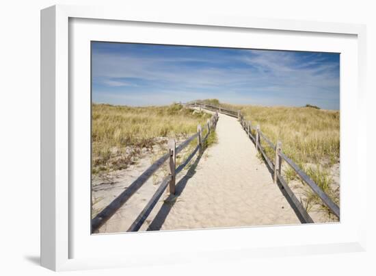
[[[353,171],[351,172],[353,176],[350,178],[348,175],[343,175],[341,169],[341,181],[353,181],[356,185],[345,186],[348,187],[345,189],[341,187],[341,223],[333,225],[305,225],[304,228],[300,226],[252,227],[200,231],[167,231],[164,233],[130,235],[100,235],[96,236],[96,238],[90,236],[90,233],[87,233],[88,236],[79,236],[81,235],[77,234],[79,231],[81,231],[80,233],[84,233],[83,235],[86,235],[87,231],[84,229],[85,227],[72,225],[77,224],[77,221],[82,221],[85,214],[81,215],[76,212],[77,204],[75,204],[75,197],[77,195],[73,196],[72,194],[72,191],[76,191],[75,186],[72,186],[72,183],[75,183],[72,179],[74,166],[70,159],[70,156],[75,153],[75,148],[72,148],[70,145],[72,139],[75,139],[72,132],[75,131],[75,123],[79,121],[78,117],[73,116],[73,114],[77,113],[73,112],[75,105],[72,104],[72,99],[75,99],[75,101],[77,99],[75,97],[77,93],[72,96],[70,95],[70,91],[75,90],[75,84],[71,82],[75,78],[75,73],[79,74],[79,71],[75,67],[75,73],[70,75],[72,74],[70,66],[72,64],[83,64],[84,66],[82,67],[87,68],[87,64],[85,60],[80,60],[76,55],[70,55],[70,47],[72,46],[70,39],[75,39],[75,36],[70,34],[73,30],[70,23],[74,22],[75,18],[80,18],[78,21],[81,22],[85,21],[83,22],[84,25],[94,24],[96,20],[99,24],[96,26],[98,34],[100,33],[100,24],[104,22],[109,23],[107,27],[104,25],[103,28],[113,28],[113,30],[108,32],[108,37],[105,39],[115,38],[116,41],[124,40],[124,36],[127,36],[127,34],[122,34],[122,38],[116,38],[118,34],[118,29],[116,28],[121,28],[122,22],[131,22],[133,27],[148,23],[149,29],[157,28],[160,24],[167,26],[165,27],[167,33],[161,38],[166,44],[172,44],[174,41],[180,39],[178,37],[168,37],[169,26],[172,26],[174,29],[187,29],[192,34],[198,34],[198,29],[204,29],[206,33],[216,30],[215,32],[226,32],[229,35],[237,31],[244,31],[245,36],[251,30],[260,33],[269,32],[271,38],[267,39],[271,39],[272,42],[274,39],[274,43],[276,43],[276,36],[280,32],[284,36],[291,36],[289,43],[290,45],[291,43],[295,44],[291,49],[297,50],[299,50],[299,47],[304,47],[304,44],[299,45],[299,40],[297,39],[299,36],[304,36],[311,40],[316,39],[315,36],[323,36],[324,40],[326,37],[328,40],[326,44],[323,43],[321,46],[312,45],[308,47],[309,49],[317,50],[324,49],[320,47],[327,47],[325,49],[340,47],[338,44],[339,40],[336,42],[336,38],[344,38],[343,45],[348,44],[349,48],[342,47],[344,47],[343,51],[346,53],[349,62],[347,63],[347,60],[345,60],[342,63],[341,61],[341,79],[343,79],[344,75],[348,76],[349,82],[346,82],[344,87],[341,80],[341,139],[344,137],[344,133],[347,136],[347,134],[351,134],[351,131],[353,136],[345,138],[345,144],[352,145],[351,149],[348,147],[344,149],[343,141],[341,140],[341,158],[345,154],[347,157],[350,156],[353,159],[349,160],[347,164],[347,166],[353,166]],[[116,22],[116,26],[113,27],[111,22]],[[81,32],[81,39],[85,37],[86,40],[90,40],[90,36],[86,37],[83,35],[83,29],[80,31],[79,27],[75,27],[74,30],[75,32]],[[202,258],[204,260],[236,260],[237,258],[252,258],[256,255],[271,257],[286,254],[339,253],[364,250],[366,224],[363,214],[366,214],[366,195],[364,194],[366,191],[366,168],[360,165],[359,160],[366,159],[366,145],[359,142],[365,140],[364,132],[356,131],[365,127],[364,118],[366,118],[365,110],[361,108],[365,101],[366,29],[364,25],[219,15],[198,16],[184,13],[146,14],[131,10],[117,10],[116,8],[55,5],[41,12],[41,34],[42,266],[55,271],[65,271],[117,266],[142,266],[148,264],[174,264],[177,262],[187,262],[187,260],[189,262],[200,262]],[[135,32],[130,30],[128,34],[135,34]],[[275,37],[273,38],[273,36]],[[349,38],[348,43],[345,39],[347,37]],[[330,40],[332,38],[334,40]],[[137,36],[134,36],[133,42],[137,39]],[[159,38],[139,39],[139,41],[143,42],[153,42]],[[175,43],[184,44],[187,41],[184,39],[181,38],[179,42]],[[203,43],[204,45],[208,45],[211,42],[207,40]],[[215,43],[221,42],[212,43],[218,46]],[[241,43],[241,40],[239,40],[239,43]],[[279,45],[281,43],[279,42]],[[334,45],[331,46],[331,43],[334,43]],[[81,42],[80,45],[85,45],[85,41]],[[260,47],[262,46],[260,44]],[[283,46],[276,45],[276,49],[279,47],[287,49],[288,44],[283,44]],[[301,50],[308,50],[308,48],[302,48]],[[346,68],[343,68],[343,66]],[[355,77],[351,78],[349,73],[356,73]],[[87,88],[87,81],[85,85]],[[85,87],[83,87],[83,90],[86,89]],[[354,88],[353,92],[348,89],[350,87]],[[82,93],[84,94],[85,92]],[[77,100],[77,103],[79,101]],[[353,107],[351,112],[355,115],[350,118],[350,116],[347,116],[350,112],[347,109],[347,104],[354,101],[357,105]],[[343,108],[346,111],[345,114],[342,114]],[[86,114],[87,116],[90,116],[90,114]],[[81,159],[84,160],[85,156],[81,155]],[[343,166],[342,159],[341,166]],[[344,176],[346,177],[345,179],[343,179]],[[351,198],[351,195],[354,198]],[[346,209],[345,204],[349,202],[347,199],[351,199],[351,202],[356,203],[355,210],[351,211],[353,213]],[[355,214],[358,214],[356,219]],[[77,220],[77,216],[79,220]],[[90,217],[88,220],[90,220]],[[302,236],[303,232],[307,236],[312,236],[312,234],[316,233],[317,237],[305,239]],[[323,237],[324,233],[331,233],[332,236],[329,234],[325,238]],[[342,235],[341,233],[344,234]],[[334,238],[335,235],[336,238]],[[247,236],[250,238],[245,240],[244,238]],[[260,243],[252,240],[252,236],[257,236]],[[286,237],[286,241],[273,238],[280,236]],[[293,242],[293,236],[300,237],[300,239]],[[163,248],[163,244],[172,239],[181,240],[178,249],[159,250],[158,252],[152,250],[157,247],[159,249]],[[199,240],[200,242],[192,246],[193,240]],[[218,240],[221,240],[221,242],[217,242]],[[266,240],[269,240],[269,242],[265,242]],[[116,250],[113,250],[111,254],[90,254],[90,244],[94,244],[94,242],[96,242],[96,246],[103,247],[103,249],[107,248],[108,250],[112,247]],[[122,242],[127,246],[122,247],[120,245]],[[113,244],[119,244],[119,246],[114,247]],[[85,247],[88,250],[81,250],[80,253],[76,253],[76,249],[73,249],[78,247]]]

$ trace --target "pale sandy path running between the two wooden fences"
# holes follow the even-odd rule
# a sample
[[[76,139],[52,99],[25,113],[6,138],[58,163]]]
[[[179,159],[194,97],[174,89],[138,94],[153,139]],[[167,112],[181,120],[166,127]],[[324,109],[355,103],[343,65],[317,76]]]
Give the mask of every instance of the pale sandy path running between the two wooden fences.
[[[300,223],[237,119],[219,114],[216,131],[218,143],[189,168],[176,196],[167,198],[144,228]]]

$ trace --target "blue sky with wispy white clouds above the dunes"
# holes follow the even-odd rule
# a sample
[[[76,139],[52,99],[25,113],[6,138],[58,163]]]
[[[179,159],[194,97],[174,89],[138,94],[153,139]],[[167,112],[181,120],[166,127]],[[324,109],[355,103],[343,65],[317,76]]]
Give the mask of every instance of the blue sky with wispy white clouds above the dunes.
[[[92,42],[92,101],[195,99],[339,110],[339,54]]]

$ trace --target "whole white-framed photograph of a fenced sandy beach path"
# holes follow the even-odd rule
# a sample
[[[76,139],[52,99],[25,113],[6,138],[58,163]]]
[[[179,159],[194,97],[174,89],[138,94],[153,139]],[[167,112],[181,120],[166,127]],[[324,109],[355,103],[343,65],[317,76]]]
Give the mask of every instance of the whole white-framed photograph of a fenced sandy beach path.
[[[41,12],[42,265],[362,251],[365,27],[159,16]]]

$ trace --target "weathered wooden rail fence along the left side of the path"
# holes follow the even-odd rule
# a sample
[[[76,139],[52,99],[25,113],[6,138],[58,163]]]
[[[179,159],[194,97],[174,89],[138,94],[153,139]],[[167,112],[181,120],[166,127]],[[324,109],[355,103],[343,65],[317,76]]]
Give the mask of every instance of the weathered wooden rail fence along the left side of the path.
[[[105,209],[103,209],[99,214],[97,214],[92,219],[92,233],[97,231],[100,226],[102,226],[113,214],[115,214],[116,211],[118,211],[126,201],[128,201],[134,194],[141,188],[145,182],[150,178],[150,176],[155,173],[167,160],[170,162],[170,173],[167,177],[165,177],[155,192],[155,194],[152,196],[150,201],[146,204],[146,207],[142,212],[137,216],[136,220],[133,222],[131,227],[127,231],[138,231],[140,227],[142,227],[144,221],[146,218],[148,218],[148,215],[152,211],[152,209],[157,204],[157,201],[159,198],[163,195],[163,191],[169,186],[170,194],[175,194],[175,181],[176,181],[176,175],[180,173],[180,171],[183,170],[183,168],[189,163],[189,161],[193,158],[193,156],[199,151],[202,153],[204,150],[204,142],[208,138],[211,131],[215,130],[215,127],[217,125],[218,121],[218,113],[215,112],[213,116],[211,116],[210,119],[206,122],[205,129],[207,129],[206,135],[202,137],[202,127],[201,125],[198,125],[196,134],[193,134],[193,136],[189,137],[187,140],[182,142],[178,147],[176,147],[176,142],[174,139],[170,139],[168,141],[168,152],[159,158],[156,162],[154,162],[149,168],[142,173],[142,175],[139,175],[135,181],[124,190],[116,199],[114,199]],[[187,160],[180,164],[176,168],[176,154],[180,153],[185,147],[189,145],[190,142],[192,142],[195,138],[197,138],[198,145],[193,149],[193,151],[189,154]]]

